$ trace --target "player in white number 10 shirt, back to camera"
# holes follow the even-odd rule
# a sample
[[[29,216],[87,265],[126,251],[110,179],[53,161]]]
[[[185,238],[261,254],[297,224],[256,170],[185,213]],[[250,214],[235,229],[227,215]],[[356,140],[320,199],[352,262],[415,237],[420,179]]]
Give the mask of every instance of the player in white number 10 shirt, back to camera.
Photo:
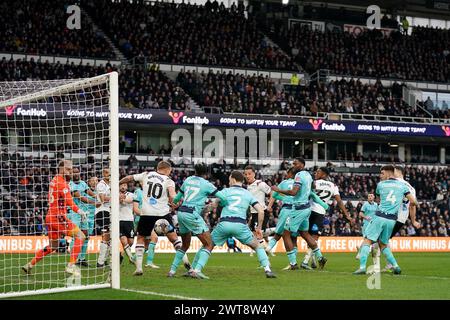
[[[170,214],[173,198],[175,193],[175,182],[170,179],[172,166],[167,161],[160,161],[156,167],[156,172],[143,172],[132,176],[126,176],[120,180],[120,183],[128,183],[138,181],[142,186],[142,207],[140,208],[140,219],[137,226],[137,242],[136,242],[136,271],[134,275],[143,275],[142,262],[145,251],[145,238],[150,237],[155,222],[159,219],[165,219],[169,222],[166,233],[167,238],[173,243],[175,250],[181,247],[181,240],[173,225],[172,216]],[[187,256],[185,256],[187,259]],[[190,269],[190,264],[185,263],[186,269]]]

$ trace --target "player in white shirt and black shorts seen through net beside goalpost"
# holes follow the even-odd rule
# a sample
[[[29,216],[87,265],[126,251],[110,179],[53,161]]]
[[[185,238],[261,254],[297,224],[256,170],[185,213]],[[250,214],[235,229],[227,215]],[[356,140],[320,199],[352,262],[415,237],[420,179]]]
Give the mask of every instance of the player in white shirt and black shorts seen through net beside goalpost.
[[[100,253],[97,259],[97,267],[103,268],[110,250],[110,232],[111,225],[109,213],[111,210],[111,188],[109,186],[110,172],[108,168],[102,170],[103,179],[97,184],[95,193],[100,206],[95,209],[95,225],[96,229],[102,234],[102,242],[100,243]]]

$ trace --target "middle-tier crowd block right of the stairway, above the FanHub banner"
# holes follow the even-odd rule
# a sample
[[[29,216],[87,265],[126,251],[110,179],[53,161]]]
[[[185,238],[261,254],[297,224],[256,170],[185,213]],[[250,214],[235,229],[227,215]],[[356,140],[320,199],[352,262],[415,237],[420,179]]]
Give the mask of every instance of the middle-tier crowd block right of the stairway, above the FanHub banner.
[[[381,81],[363,84],[360,80],[308,86],[285,87],[262,75],[219,72],[180,72],[177,82],[202,106],[220,107],[225,112],[315,115],[318,112],[367,115],[427,116],[420,108],[402,101],[402,85],[386,88]],[[438,111],[436,111],[438,112]],[[449,113],[441,112],[442,117]]]

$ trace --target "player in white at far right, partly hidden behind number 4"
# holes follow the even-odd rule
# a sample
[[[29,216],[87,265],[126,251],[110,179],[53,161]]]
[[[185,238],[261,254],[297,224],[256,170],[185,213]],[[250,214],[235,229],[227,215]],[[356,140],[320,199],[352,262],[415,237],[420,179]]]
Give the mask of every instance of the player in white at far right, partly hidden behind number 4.
[[[403,204],[400,206],[400,209],[398,211],[397,216],[397,222],[395,223],[394,229],[392,230],[391,238],[397,234],[397,232],[400,231],[400,229],[405,225],[406,220],[408,220],[408,217],[411,216],[411,221],[414,221],[414,228],[420,228],[420,223],[416,221],[416,211],[417,207],[419,206],[419,203],[417,202],[416,198],[416,189],[412,185],[409,184],[408,181],[404,179],[405,174],[405,168],[402,166],[395,166],[394,167],[394,177],[397,180],[402,181],[406,186],[408,187],[409,193],[414,197],[415,205],[411,206],[411,203],[407,198],[403,199]],[[378,263],[379,264],[379,263]],[[393,266],[391,264],[387,264],[383,271],[389,271],[393,270]]]

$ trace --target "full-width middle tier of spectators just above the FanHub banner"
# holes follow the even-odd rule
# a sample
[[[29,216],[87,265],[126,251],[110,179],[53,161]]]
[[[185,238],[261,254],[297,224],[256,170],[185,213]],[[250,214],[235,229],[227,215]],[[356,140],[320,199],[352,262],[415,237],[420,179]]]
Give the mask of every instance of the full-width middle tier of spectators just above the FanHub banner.
[[[261,75],[182,71],[174,83],[154,66],[118,68],[110,63],[89,66],[6,58],[0,60],[0,81],[83,78],[113,70],[120,72],[119,103],[127,108],[191,110],[198,103],[202,107],[220,107],[225,112],[237,113],[312,116],[334,112],[429,117],[423,109],[402,101],[402,84],[394,83],[387,88],[380,81],[363,84],[355,79],[342,79],[292,87]],[[424,102],[421,105],[426,108]],[[429,112],[438,118],[450,118],[448,109],[435,108]]]

